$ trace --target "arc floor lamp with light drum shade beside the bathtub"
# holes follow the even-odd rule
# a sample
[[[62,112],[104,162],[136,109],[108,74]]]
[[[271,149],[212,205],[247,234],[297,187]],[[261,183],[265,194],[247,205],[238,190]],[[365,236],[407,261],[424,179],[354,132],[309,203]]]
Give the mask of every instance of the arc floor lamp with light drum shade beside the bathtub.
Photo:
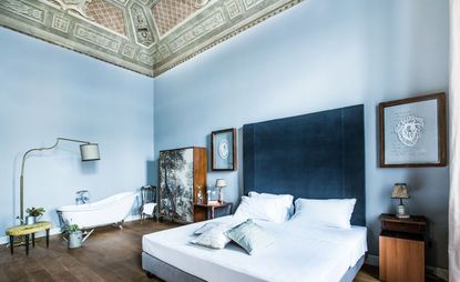
[[[21,224],[24,222],[24,167],[25,167],[25,160],[29,153],[35,152],[35,151],[47,151],[52,150],[58,147],[60,141],[70,141],[70,142],[76,142],[82,143],[80,145],[80,153],[81,153],[81,160],[82,161],[96,161],[100,160],[99,155],[99,145],[98,143],[91,143],[88,141],[81,141],[75,139],[69,139],[69,138],[57,138],[55,143],[52,147],[43,147],[43,148],[33,148],[30,149],[24,153],[22,157],[22,165],[21,165],[21,179],[20,179],[20,221]]]

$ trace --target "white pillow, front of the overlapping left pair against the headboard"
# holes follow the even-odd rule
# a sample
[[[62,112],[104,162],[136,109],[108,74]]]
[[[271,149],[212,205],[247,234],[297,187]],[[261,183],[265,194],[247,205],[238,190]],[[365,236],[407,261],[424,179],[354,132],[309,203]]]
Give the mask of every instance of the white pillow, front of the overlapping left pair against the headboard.
[[[278,199],[242,197],[242,202],[236,209],[235,218],[247,220],[266,220],[272,222],[285,222],[289,219],[286,207]]]

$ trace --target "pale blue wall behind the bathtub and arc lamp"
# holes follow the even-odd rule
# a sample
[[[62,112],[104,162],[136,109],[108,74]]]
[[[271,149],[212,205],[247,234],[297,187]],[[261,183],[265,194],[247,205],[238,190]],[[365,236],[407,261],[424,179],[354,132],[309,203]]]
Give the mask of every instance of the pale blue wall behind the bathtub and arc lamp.
[[[152,180],[151,78],[0,28],[0,234],[17,223],[22,154],[57,137],[98,142],[101,161],[82,163],[69,142],[28,159],[25,207],[45,219],[79,189],[96,200]]]

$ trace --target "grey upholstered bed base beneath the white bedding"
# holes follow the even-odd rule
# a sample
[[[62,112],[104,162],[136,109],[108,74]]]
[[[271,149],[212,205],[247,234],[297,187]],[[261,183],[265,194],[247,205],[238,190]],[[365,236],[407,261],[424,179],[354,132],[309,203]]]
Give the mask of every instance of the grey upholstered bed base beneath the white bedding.
[[[365,255],[352,268],[349,268],[338,282],[352,282],[364,262]],[[147,272],[150,278],[156,276],[166,282],[205,282],[205,280],[165,263],[146,252],[142,252],[142,269]]]

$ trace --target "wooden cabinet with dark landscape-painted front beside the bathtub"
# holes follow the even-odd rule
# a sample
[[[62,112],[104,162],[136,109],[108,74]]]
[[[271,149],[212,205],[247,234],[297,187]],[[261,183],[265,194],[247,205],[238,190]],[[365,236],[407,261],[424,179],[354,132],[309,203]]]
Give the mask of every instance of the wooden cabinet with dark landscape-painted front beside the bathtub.
[[[193,222],[198,190],[206,193],[206,148],[160,151],[160,216]]]

